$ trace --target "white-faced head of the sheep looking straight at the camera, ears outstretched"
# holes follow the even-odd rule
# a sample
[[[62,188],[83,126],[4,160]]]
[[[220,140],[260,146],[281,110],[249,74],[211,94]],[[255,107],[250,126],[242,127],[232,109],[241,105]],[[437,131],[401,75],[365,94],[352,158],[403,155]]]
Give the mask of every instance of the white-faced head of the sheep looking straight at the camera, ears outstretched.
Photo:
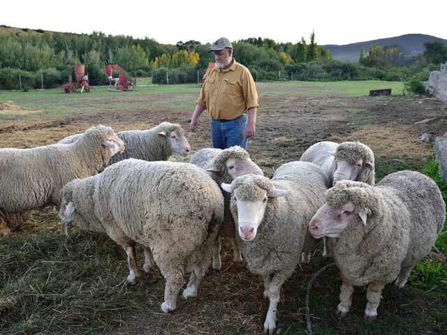
[[[221,184],[224,191],[232,193],[231,210],[237,232],[245,241],[256,237],[259,225],[263,221],[268,198],[281,197],[290,191],[274,188],[270,179],[258,174],[246,174],[237,177],[231,184]]]

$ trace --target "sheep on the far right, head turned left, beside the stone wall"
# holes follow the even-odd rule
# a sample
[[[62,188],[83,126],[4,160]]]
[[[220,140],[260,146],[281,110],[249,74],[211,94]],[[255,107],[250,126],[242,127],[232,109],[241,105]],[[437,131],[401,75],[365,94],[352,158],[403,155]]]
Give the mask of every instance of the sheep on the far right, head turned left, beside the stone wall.
[[[383,287],[394,280],[404,287],[430,252],[445,213],[437,184],[419,172],[395,172],[376,186],[345,180],[330,188],[309,232],[334,237],[330,248],[343,280],[336,313],[349,312],[354,285],[368,285],[365,320],[375,320]]]

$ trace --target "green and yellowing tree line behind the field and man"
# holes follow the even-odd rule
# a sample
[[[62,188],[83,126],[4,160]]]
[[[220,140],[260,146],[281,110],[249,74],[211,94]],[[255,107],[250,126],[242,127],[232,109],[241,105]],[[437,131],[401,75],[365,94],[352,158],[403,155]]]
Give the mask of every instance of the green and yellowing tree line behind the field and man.
[[[399,80],[414,75],[424,66],[447,61],[447,47],[426,43],[419,59],[406,57],[398,45],[361,50],[358,62],[335,61],[330,50],[316,43],[314,31],[309,43],[277,43],[270,38],[247,38],[233,43],[237,61],[251,70],[255,80]],[[443,47],[445,49],[443,49]],[[107,84],[103,66],[119,64],[133,77],[153,76],[154,82],[196,82],[214,55],[210,44],[196,40],[176,45],[156,42],[152,38],[112,36],[94,31],[71,34],[0,27],[0,89],[17,89],[17,76],[24,85],[57,87],[68,80],[75,64],[85,64],[90,84]],[[445,53],[445,54],[444,54]],[[409,64],[417,64],[411,68]]]

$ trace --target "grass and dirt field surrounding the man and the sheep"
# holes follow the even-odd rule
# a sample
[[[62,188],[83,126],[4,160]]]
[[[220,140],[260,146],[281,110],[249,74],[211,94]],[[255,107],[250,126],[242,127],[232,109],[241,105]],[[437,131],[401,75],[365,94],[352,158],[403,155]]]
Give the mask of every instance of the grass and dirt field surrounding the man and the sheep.
[[[376,181],[398,170],[418,170],[437,181],[447,198],[447,186],[433,163],[433,142],[418,141],[421,133],[433,138],[447,133],[446,103],[402,96],[401,82],[257,85],[261,107],[249,153],[268,177],[281,164],[298,160],[314,142],[360,140],[376,155]],[[393,96],[368,96],[369,89],[390,87]],[[98,87],[82,94],[0,91],[0,103],[12,101],[17,107],[0,109],[0,147],[52,144],[94,124],[123,131],[174,121],[187,129],[199,90],[185,84],[129,92]],[[433,120],[416,124],[423,119]],[[206,113],[199,131],[186,131],[186,137],[193,152],[210,147]],[[436,246],[447,254],[445,227]],[[137,252],[142,265],[142,251]],[[277,334],[307,334],[307,285],[330,264],[321,254],[318,244],[311,264],[299,265],[284,283]],[[129,285],[125,254],[108,237],[75,225],[62,237],[56,214],[30,211],[14,232],[0,234],[0,334],[262,334],[268,310],[262,279],[250,274],[244,262],[233,262],[228,241],[223,241],[221,255],[222,270],[208,271],[198,297],[179,297],[177,309],[165,315],[159,309],[164,292],[159,269]],[[362,318],[364,288],[356,288],[346,318],[333,314],[341,280],[332,265],[310,291],[313,334],[447,334],[446,278],[447,261],[430,253],[413,269],[405,288],[386,286],[377,320],[367,323]]]

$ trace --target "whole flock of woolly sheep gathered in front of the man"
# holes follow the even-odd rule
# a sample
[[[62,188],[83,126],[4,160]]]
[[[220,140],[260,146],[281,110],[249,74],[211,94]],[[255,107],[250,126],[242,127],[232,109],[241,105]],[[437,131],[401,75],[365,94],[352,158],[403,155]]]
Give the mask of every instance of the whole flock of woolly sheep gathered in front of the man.
[[[114,133],[94,126],[57,144],[0,149],[0,214],[58,206],[68,223],[107,234],[127,255],[129,276],[141,276],[135,244],[166,279],[161,311],[177,296],[196,297],[212,265],[221,269],[219,238],[233,242],[233,260],[264,281],[270,306],[264,332],[276,329],[281,285],[299,262],[310,262],[316,239],[342,277],[336,313],[346,315],[354,286],[367,285],[365,320],[376,318],[381,290],[404,287],[430,252],[445,221],[438,186],[419,172],[401,171],[374,185],[374,154],[360,142],[318,142],[271,179],[240,147],[205,148],[190,163],[178,124]]]

